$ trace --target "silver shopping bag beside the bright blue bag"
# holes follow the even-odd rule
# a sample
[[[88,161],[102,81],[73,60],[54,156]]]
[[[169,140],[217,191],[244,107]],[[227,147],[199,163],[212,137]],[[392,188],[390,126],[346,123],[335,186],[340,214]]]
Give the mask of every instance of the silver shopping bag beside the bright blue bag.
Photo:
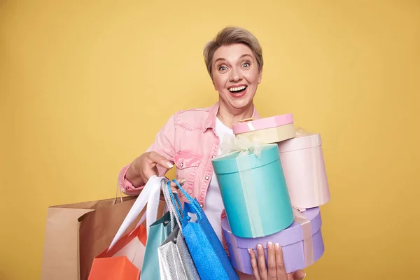
[[[178,201],[174,200],[171,193],[170,182],[162,185],[163,194],[167,209],[176,218],[176,225],[167,239],[158,248],[160,279],[162,280],[195,280],[200,279],[200,275],[195,268],[190,251],[183,239],[181,225],[181,213]],[[179,202],[181,205],[181,202]]]

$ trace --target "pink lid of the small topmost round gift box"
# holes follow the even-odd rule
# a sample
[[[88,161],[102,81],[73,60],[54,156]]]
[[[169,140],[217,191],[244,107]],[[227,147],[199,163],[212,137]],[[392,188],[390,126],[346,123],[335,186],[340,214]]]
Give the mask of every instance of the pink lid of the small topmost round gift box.
[[[246,119],[242,120],[241,123],[237,123],[232,126],[234,134],[241,134],[245,132],[251,132],[253,130],[264,130],[266,128],[279,127],[281,125],[289,125],[293,123],[293,115],[291,113],[259,119]]]

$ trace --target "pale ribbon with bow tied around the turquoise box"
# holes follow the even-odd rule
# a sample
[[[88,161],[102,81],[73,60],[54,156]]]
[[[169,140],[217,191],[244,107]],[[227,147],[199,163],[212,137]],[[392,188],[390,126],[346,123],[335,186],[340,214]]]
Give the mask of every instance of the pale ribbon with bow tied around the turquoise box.
[[[262,142],[258,141],[255,137],[250,139],[242,135],[237,135],[236,137],[226,135],[220,146],[222,156],[237,153],[239,151],[236,162],[242,193],[244,195],[246,214],[248,215],[251,235],[253,237],[261,237],[264,234],[262,231],[260,211],[258,209],[257,195],[255,193],[251,162],[248,160],[248,153],[251,152],[260,158],[262,147]]]

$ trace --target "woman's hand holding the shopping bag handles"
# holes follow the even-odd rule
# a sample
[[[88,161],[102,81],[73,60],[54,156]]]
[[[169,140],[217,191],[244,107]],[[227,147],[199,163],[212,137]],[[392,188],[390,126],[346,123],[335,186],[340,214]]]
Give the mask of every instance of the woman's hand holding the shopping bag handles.
[[[133,160],[125,177],[132,182],[134,186],[142,186],[151,178],[151,176],[159,176],[158,165],[167,169],[174,167],[172,162],[169,162],[163,155],[156,152],[148,152]],[[185,180],[181,178],[176,179],[176,181],[178,181],[180,185],[185,183]],[[178,187],[174,182],[171,182],[171,188],[172,192],[176,193]],[[163,195],[161,195],[161,197],[163,197]],[[162,200],[165,200],[165,198],[162,198]]]

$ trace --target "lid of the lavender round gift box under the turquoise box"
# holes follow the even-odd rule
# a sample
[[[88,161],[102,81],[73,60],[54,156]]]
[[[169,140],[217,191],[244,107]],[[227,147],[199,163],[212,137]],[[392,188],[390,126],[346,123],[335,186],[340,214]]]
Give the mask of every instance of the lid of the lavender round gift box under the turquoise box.
[[[321,230],[322,220],[319,207],[307,209],[306,211],[302,212],[302,215],[311,222],[312,235]],[[228,218],[223,218],[222,229],[223,231],[230,233],[230,235],[225,235],[225,238],[227,242],[232,243],[230,238],[232,238],[234,235],[232,235],[232,231],[230,230]],[[235,237],[235,239],[239,248],[256,248],[255,246],[257,244],[266,246],[269,241],[277,242],[280,244],[280,246],[295,244],[303,240],[303,235],[301,225],[299,223],[293,222],[288,228],[286,228],[286,230],[274,233],[273,235],[267,235],[265,237],[259,238]]]

